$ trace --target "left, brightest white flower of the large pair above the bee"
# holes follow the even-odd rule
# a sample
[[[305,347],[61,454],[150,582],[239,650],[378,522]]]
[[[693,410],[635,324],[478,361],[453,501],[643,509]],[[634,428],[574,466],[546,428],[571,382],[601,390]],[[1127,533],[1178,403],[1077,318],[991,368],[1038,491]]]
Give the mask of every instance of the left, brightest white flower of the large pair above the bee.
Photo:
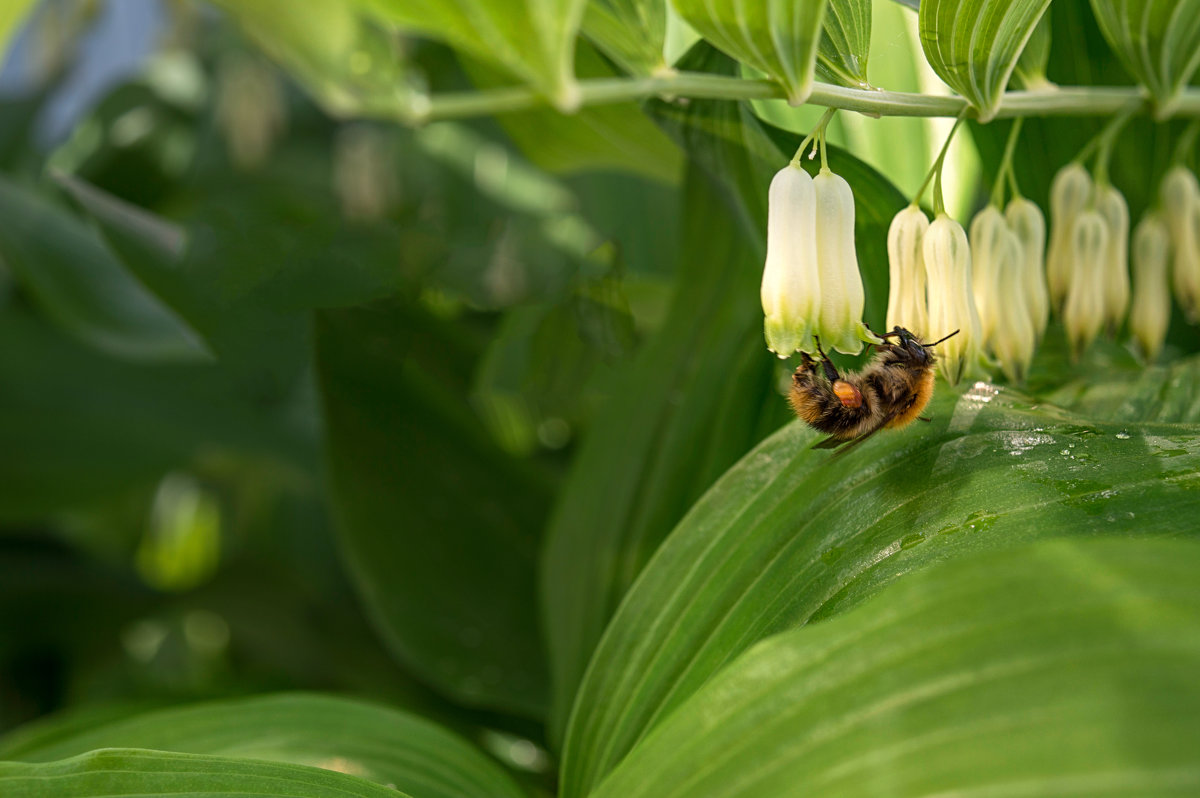
[[[767,348],[786,358],[814,350],[820,290],[816,193],[812,178],[788,164],[770,181],[767,212],[767,265],[762,272],[763,331]]]

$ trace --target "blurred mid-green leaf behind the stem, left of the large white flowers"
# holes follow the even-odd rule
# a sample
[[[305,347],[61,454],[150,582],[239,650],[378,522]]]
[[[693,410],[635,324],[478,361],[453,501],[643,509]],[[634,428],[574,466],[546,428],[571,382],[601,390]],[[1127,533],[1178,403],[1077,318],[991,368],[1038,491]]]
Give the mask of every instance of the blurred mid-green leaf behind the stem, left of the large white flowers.
[[[575,58],[580,77],[616,77],[587,42],[580,43]],[[492,67],[469,59],[464,66],[479,88],[503,85]],[[679,180],[679,148],[631,102],[592,106],[570,115],[539,108],[500,114],[496,121],[526,157],[550,172],[614,169],[666,184]]]

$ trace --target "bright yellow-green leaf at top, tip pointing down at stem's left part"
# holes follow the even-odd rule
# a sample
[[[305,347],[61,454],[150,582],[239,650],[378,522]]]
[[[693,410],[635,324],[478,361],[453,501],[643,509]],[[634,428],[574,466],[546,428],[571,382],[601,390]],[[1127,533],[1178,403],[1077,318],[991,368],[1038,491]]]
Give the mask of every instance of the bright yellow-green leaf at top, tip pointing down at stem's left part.
[[[575,36],[586,0],[356,0],[389,23],[508,68],[560,110],[578,107]]]

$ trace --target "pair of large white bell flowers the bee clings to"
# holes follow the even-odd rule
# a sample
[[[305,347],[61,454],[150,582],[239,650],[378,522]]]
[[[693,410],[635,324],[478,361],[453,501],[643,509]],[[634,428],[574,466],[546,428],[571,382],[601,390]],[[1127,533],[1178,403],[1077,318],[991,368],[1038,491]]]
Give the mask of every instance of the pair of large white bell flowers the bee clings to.
[[[824,349],[857,354],[877,341],[863,324],[854,252],[854,194],[822,167],[790,163],[770,181],[762,310],[767,347],[780,358]]]

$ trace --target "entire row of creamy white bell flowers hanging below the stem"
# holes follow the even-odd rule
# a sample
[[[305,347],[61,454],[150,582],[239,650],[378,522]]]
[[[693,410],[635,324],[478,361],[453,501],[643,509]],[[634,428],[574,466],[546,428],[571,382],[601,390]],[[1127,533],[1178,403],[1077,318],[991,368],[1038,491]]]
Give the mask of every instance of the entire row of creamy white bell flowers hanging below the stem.
[[[1200,181],[1184,167],[1168,172],[1162,210],[1140,220],[1130,247],[1126,199],[1098,174],[1072,163],[1055,176],[1049,241],[1042,210],[1020,196],[976,215],[970,236],[944,212],[930,222],[916,203],[901,210],[888,230],[888,329],[926,340],[958,330],[938,348],[952,384],[989,365],[1024,380],[1051,310],[1076,358],[1128,316],[1130,336],[1154,359],[1171,314],[1169,282],[1200,322]],[[818,341],[850,354],[877,341],[862,322],[854,198],[828,168],[810,178],[792,163],[772,181],[762,305],[767,344],[780,358],[812,353]]]

